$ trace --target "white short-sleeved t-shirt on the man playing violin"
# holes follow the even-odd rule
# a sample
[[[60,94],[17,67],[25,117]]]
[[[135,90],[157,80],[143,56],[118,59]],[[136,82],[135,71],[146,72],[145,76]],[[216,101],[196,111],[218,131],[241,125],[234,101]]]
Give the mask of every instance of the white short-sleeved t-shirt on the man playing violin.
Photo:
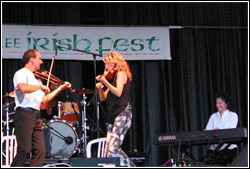
[[[17,87],[19,83],[26,83],[29,85],[43,85],[40,79],[36,79],[35,75],[28,69],[22,68],[18,70],[13,78],[14,93],[15,93],[15,110],[17,107],[30,107],[40,110],[40,104],[44,92],[39,89],[32,93],[21,93]]]

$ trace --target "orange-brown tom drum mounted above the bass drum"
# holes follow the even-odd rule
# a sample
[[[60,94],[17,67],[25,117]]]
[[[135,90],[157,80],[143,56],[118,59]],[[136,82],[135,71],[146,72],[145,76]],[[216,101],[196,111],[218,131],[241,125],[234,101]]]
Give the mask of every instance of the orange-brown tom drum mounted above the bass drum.
[[[65,102],[60,110],[60,120],[68,123],[76,123],[80,119],[79,106],[76,102]]]

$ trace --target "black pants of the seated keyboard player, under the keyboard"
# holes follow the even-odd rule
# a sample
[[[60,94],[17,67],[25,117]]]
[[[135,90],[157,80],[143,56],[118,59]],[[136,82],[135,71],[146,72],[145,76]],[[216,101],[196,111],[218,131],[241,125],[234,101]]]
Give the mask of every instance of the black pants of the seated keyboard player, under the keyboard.
[[[220,150],[215,152],[213,150],[208,150],[207,155],[205,156],[204,162],[209,165],[220,165],[227,166],[228,163],[231,163],[234,158],[237,156],[238,149],[234,148],[232,150]]]

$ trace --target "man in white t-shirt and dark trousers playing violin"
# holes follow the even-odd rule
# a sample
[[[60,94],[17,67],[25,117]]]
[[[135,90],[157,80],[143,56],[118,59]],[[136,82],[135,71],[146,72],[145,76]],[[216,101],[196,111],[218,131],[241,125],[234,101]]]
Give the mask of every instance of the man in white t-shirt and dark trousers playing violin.
[[[24,166],[30,152],[30,166],[42,166],[46,149],[42,125],[39,123],[40,105],[51,101],[62,90],[71,88],[71,83],[64,82],[51,92],[48,86],[35,78],[33,72],[43,64],[41,54],[36,49],[27,50],[23,62],[24,67],[13,78],[16,111],[14,127],[18,148],[11,166]]]

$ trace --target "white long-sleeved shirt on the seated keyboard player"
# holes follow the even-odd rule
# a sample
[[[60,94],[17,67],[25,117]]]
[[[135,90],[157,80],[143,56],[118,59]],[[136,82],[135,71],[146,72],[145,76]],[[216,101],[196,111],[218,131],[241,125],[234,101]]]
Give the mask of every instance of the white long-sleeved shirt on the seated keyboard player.
[[[222,117],[220,116],[220,112],[213,113],[209,121],[207,123],[206,129],[207,130],[214,130],[215,128],[220,129],[230,129],[230,128],[236,128],[238,125],[238,115],[235,112],[232,112],[230,110],[226,110]],[[213,144],[209,147],[211,150],[215,150],[218,144]],[[220,150],[224,149],[227,146],[227,144],[224,144],[221,146]],[[233,149],[237,147],[236,144],[232,144],[229,146],[228,149]]]

